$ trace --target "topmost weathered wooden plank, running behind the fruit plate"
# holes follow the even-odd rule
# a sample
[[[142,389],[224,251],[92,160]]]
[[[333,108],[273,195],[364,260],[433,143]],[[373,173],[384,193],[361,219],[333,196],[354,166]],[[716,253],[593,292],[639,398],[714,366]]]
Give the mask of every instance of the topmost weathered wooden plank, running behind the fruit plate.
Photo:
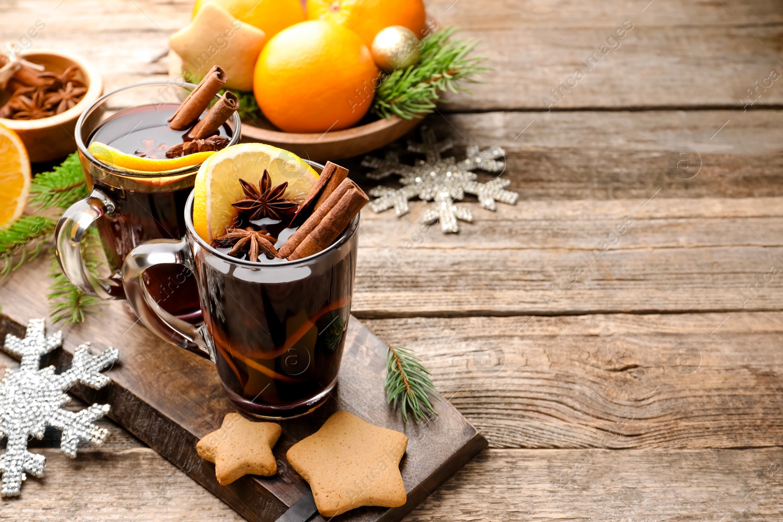
[[[544,96],[555,100],[550,88],[561,89],[557,109],[742,107],[752,101],[747,90],[765,80],[769,86],[756,92],[754,106],[783,101],[778,82],[767,79],[773,69],[783,72],[778,63],[783,13],[772,0],[678,0],[646,9],[648,2],[631,0],[601,6],[543,0],[489,7],[452,0],[427,3],[442,26],[457,25],[465,36],[482,39],[479,49],[495,69],[488,83],[474,86],[475,95],[452,96],[453,103],[442,110],[542,110],[547,108]],[[185,0],[4,2],[0,15],[9,23],[0,37],[19,41],[28,27],[43,20],[46,28],[32,40],[35,48],[56,45],[79,52],[96,62],[106,88],[117,88],[165,74],[165,59],[150,60],[166,49],[168,36],[189,22],[190,10]],[[633,29],[619,40],[619,48],[602,55],[601,45],[625,20]],[[601,59],[587,72],[579,60],[594,52]],[[577,67],[586,76],[565,91],[558,82],[567,81]]]

